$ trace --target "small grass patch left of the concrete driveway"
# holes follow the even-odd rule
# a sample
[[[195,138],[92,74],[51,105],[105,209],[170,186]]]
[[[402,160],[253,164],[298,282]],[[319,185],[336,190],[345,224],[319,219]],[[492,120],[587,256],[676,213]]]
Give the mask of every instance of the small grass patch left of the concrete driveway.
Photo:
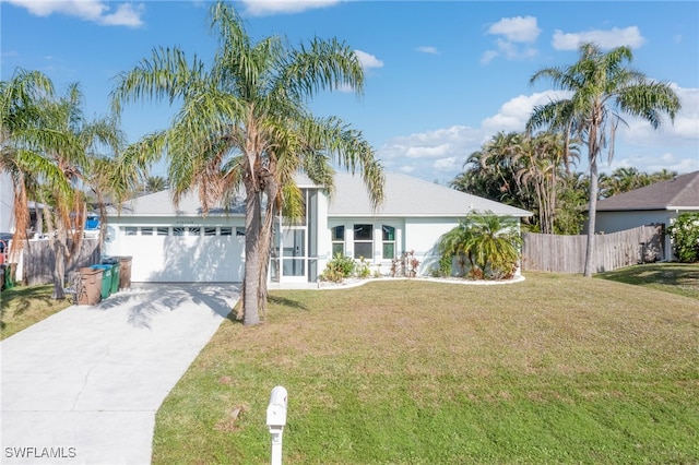
[[[15,286],[0,293],[0,341],[70,306],[68,299],[54,300],[54,285]]]

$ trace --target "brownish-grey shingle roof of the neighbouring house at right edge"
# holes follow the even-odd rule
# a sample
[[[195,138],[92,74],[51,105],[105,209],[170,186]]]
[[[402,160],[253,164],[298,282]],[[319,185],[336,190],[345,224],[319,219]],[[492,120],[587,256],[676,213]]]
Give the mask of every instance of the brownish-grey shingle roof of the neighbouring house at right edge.
[[[699,171],[597,202],[599,212],[629,210],[699,210]]]

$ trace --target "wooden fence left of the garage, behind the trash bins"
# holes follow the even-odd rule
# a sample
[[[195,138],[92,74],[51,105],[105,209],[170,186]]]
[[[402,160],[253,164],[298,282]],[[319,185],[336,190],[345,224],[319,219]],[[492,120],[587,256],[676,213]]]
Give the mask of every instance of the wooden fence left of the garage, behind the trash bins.
[[[70,241],[69,241],[70,247]],[[66,269],[66,275],[72,270],[99,263],[99,239],[83,239],[73,266]],[[56,257],[50,240],[31,240],[22,251],[22,282],[26,285],[49,284],[54,282]]]

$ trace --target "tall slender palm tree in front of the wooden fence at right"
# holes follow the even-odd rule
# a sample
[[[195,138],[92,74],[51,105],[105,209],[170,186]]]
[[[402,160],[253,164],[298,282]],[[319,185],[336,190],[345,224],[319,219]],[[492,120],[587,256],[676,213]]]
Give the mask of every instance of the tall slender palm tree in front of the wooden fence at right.
[[[597,160],[604,151],[614,156],[614,139],[623,115],[645,119],[656,129],[662,114],[674,120],[679,98],[670,84],[651,81],[642,73],[625,67],[632,60],[629,47],[617,47],[604,53],[594,44],[580,46],[580,59],[570,67],[545,68],[531,78],[534,83],[548,78],[570,97],[534,108],[526,129],[549,126],[566,128],[577,134],[588,147],[590,164],[589,223],[584,275],[592,276],[594,263],[594,228],[599,194]]]

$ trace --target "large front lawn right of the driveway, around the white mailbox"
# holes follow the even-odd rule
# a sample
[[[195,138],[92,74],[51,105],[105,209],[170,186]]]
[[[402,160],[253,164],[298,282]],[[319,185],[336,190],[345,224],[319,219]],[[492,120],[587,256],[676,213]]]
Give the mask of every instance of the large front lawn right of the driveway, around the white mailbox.
[[[699,463],[697,341],[696,299],[580,276],[273,291],[170,392],[153,462],[269,463],[284,385],[288,464]]]

